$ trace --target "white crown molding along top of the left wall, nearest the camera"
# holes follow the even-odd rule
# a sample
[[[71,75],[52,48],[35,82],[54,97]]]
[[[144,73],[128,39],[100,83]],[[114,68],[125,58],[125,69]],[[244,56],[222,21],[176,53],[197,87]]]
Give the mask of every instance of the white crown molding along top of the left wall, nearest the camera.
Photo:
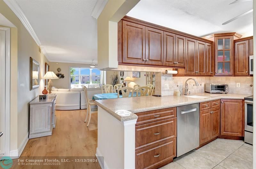
[[[9,8],[14,12],[14,14],[20,19],[21,23],[28,30],[29,34],[36,41],[38,46],[41,45],[40,40],[38,39],[36,32],[33,27],[30,25],[28,18],[25,16],[24,12],[21,10],[20,5],[15,0],[4,0],[5,4],[9,6]]]

